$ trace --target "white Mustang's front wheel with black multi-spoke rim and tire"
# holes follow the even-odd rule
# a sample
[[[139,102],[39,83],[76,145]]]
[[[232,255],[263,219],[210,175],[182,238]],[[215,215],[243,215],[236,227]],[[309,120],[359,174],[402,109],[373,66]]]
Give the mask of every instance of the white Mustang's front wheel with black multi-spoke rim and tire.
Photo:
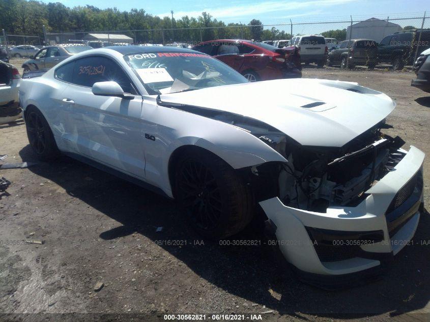
[[[179,157],[175,197],[191,226],[208,239],[235,235],[253,217],[249,188],[230,165],[205,150]]]

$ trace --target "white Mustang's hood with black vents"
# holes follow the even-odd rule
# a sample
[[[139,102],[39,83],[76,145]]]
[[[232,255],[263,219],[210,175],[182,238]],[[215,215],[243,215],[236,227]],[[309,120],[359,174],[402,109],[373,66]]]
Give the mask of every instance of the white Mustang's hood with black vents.
[[[387,95],[357,83],[278,79],[160,95],[165,103],[193,105],[264,122],[302,145],[342,147],[395,108]]]

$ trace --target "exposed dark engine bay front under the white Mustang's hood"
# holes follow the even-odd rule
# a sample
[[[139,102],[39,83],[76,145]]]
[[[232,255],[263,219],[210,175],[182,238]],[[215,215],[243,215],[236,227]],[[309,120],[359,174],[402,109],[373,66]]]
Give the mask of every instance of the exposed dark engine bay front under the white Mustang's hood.
[[[276,196],[285,206],[314,212],[355,206],[403,157],[397,149],[404,141],[381,133],[381,128],[389,127],[384,120],[342,148],[305,147],[282,133],[259,135],[251,130],[288,160],[251,168],[260,177],[252,180],[257,199],[267,198],[268,191],[275,193],[268,181],[276,180]]]

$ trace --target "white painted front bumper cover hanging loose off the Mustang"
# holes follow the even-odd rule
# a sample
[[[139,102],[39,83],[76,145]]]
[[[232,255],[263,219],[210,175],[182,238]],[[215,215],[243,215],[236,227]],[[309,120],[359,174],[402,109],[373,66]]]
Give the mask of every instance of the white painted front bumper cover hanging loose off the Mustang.
[[[326,213],[317,213],[284,206],[278,197],[261,201],[261,207],[276,226],[276,238],[285,259],[301,271],[322,275],[350,274],[381,264],[377,259],[361,257],[321,261],[305,227],[356,232],[382,230],[382,242],[360,246],[366,252],[395,255],[407,245],[418,225],[417,206],[406,211],[410,219],[391,238],[385,213],[396,193],[420,171],[424,153],[415,147],[409,152],[399,151],[406,156],[366,191],[369,195],[356,207],[329,207]],[[422,191],[420,200],[423,200]]]

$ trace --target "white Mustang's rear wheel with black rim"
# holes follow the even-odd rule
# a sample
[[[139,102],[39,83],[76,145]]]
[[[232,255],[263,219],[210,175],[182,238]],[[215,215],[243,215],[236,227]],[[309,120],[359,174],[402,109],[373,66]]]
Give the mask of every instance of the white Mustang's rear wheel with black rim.
[[[28,142],[39,160],[51,160],[60,155],[48,122],[34,106],[25,111],[25,127]]]

